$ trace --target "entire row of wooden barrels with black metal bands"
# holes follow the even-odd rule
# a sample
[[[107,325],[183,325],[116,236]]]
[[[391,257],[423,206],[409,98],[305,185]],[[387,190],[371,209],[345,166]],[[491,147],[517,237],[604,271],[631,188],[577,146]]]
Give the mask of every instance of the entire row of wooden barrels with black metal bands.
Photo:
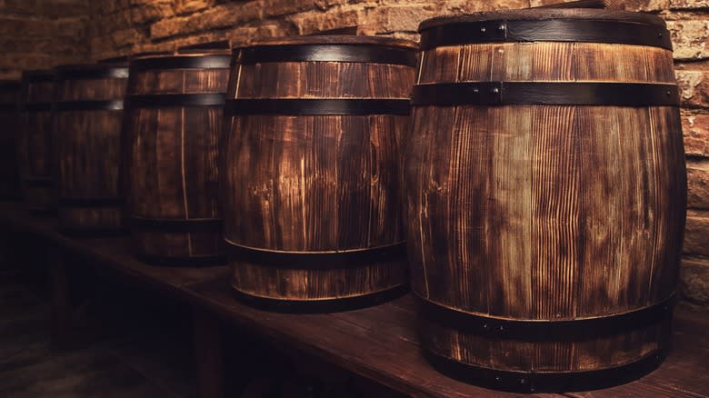
[[[235,294],[271,309],[379,303],[410,270],[425,353],[474,383],[654,368],[685,204],[664,22],[524,10],[420,32],[26,73],[27,204],[55,181],[67,233],[126,222],[148,262],[227,255]]]

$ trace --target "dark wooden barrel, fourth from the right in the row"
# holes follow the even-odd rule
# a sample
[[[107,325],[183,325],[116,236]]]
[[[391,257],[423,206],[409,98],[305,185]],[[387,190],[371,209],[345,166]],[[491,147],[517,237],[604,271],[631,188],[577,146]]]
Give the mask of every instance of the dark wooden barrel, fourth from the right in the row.
[[[127,64],[55,68],[56,191],[65,234],[120,234],[118,190]]]

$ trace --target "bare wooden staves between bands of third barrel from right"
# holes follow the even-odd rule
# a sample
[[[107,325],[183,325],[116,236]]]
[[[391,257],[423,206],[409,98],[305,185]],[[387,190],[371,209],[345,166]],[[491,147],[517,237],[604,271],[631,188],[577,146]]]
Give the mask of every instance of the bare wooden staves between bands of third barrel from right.
[[[132,70],[128,95],[225,93],[228,75],[227,68]],[[216,158],[222,117],[221,106],[126,108],[126,194],[130,216],[169,220],[221,218]],[[131,234],[135,250],[141,254],[181,258],[222,254],[218,231],[185,233],[133,228]]]

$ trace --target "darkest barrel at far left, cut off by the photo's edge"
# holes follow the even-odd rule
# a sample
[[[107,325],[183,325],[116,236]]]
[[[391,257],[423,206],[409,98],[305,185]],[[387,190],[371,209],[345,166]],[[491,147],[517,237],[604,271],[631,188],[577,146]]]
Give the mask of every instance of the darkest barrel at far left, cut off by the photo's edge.
[[[0,200],[4,201],[16,201],[22,197],[15,144],[19,127],[19,94],[19,81],[0,80]]]

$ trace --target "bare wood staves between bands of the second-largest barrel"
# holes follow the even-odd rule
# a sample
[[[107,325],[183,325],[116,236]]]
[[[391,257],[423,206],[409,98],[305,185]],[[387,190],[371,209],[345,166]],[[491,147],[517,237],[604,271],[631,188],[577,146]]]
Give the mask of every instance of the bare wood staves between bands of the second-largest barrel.
[[[359,40],[314,37],[283,44]],[[271,43],[276,49],[279,44]],[[411,48],[409,43],[388,45]],[[406,99],[413,80],[414,68],[404,65],[255,63],[235,65],[228,97]],[[222,154],[225,240],[295,254],[403,242],[399,170],[407,130],[408,117],[394,114],[232,116]],[[327,270],[238,258],[230,264],[235,290],[283,301],[356,297],[407,282],[404,259]]]

